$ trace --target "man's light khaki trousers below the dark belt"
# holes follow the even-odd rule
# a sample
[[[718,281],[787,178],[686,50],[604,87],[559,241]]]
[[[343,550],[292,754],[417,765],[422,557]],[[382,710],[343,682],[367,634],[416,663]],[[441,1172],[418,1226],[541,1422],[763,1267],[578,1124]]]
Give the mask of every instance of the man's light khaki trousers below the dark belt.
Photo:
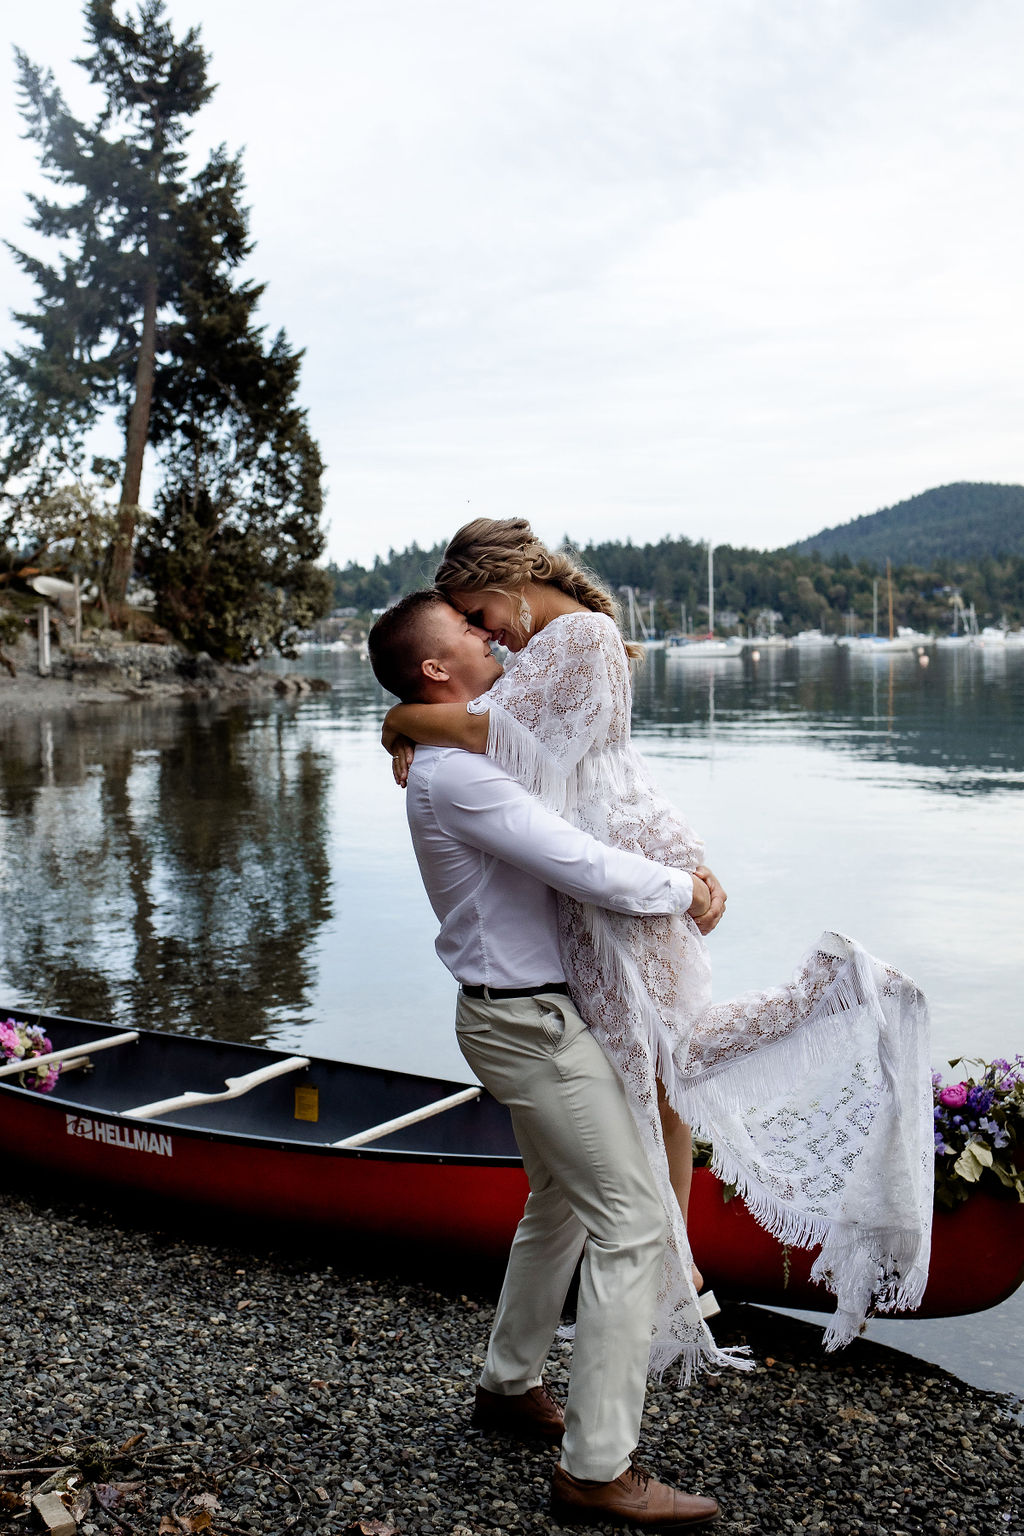
[[[640,1433],[665,1210],[619,1077],[568,997],[459,994],[456,1034],[511,1112],[530,1198],[481,1384],[536,1387],[583,1253],[562,1465],[609,1482]]]

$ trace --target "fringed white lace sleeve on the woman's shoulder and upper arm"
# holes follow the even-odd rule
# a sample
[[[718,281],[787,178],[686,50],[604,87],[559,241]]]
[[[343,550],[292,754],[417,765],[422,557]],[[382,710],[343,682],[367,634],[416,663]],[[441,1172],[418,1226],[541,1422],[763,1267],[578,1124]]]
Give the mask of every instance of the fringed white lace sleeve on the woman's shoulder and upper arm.
[[[554,811],[591,751],[629,739],[629,664],[600,613],[553,619],[468,705],[490,713],[487,753]]]

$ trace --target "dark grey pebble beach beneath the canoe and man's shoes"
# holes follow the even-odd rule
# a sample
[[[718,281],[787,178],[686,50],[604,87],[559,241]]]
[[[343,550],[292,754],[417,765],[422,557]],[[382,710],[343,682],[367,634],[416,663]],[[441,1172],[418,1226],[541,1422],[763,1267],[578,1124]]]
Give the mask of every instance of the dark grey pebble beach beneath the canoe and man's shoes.
[[[81,1536],[559,1530],[553,1450],[470,1427],[494,1299],[470,1276],[46,1193],[0,1197],[0,1530],[43,1530],[46,1490]],[[758,1309],[714,1327],[757,1370],[652,1384],[640,1456],[715,1495],[723,1536],[1024,1533],[1024,1430],[1003,1399],[864,1341],[824,1355],[818,1329]]]

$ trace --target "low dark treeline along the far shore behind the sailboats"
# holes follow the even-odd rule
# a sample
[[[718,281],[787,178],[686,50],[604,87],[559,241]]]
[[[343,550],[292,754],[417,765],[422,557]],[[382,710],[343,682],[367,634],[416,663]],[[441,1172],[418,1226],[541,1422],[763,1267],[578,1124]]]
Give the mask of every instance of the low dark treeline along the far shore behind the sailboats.
[[[330,567],[335,602],[361,613],[430,582],[442,545],[421,550],[416,544],[372,567]],[[679,630],[683,607],[695,628],[706,624],[708,551],[691,539],[660,539],[657,544],[588,544],[579,558],[622,598],[634,588],[646,617],[654,601],[659,630]],[[847,628],[870,628],[872,588],[878,570],[870,561],[854,562],[846,554],[824,561],[795,550],[743,550],[715,547],[715,628],[757,630],[769,614],[781,633],[823,628],[843,634]],[[981,624],[1024,619],[1024,553],[981,561],[943,558],[927,564],[894,565],[897,624],[944,633],[952,627],[952,598],[975,604]],[[887,608],[883,578],[881,607]],[[851,617],[852,614],[852,617]]]

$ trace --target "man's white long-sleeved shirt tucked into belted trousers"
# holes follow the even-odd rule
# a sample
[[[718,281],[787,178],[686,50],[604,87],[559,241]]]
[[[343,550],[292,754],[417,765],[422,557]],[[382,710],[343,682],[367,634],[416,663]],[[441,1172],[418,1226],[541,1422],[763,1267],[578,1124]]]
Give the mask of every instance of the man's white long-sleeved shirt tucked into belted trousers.
[[[490,757],[418,746],[405,796],[436,949],[471,985],[562,982],[556,891],[614,912],[685,912],[682,869],[605,848],[545,809]]]

